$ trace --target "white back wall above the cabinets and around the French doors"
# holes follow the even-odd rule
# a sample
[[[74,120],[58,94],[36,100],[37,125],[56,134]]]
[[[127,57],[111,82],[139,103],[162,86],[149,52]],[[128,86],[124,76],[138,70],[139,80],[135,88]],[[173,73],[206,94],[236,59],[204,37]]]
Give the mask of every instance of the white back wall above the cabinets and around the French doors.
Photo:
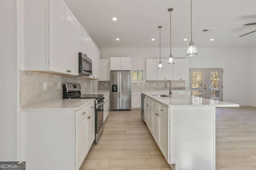
[[[161,56],[167,58],[170,48],[162,48]],[[173,48],[174,58],[186,58],[186,48]],[[189,68],[223,68],[223,100],[249,105],[248,84],[250,75],[250,48],[198,48],[196,57],[188,58]],[[158,48],[101,48],[100,58],[131,57],[132,69],[145,69],[145,59],[158,58]],[[175,62],[175,59],[174,59]],[[186,81],[188,87],[188,81]]]

